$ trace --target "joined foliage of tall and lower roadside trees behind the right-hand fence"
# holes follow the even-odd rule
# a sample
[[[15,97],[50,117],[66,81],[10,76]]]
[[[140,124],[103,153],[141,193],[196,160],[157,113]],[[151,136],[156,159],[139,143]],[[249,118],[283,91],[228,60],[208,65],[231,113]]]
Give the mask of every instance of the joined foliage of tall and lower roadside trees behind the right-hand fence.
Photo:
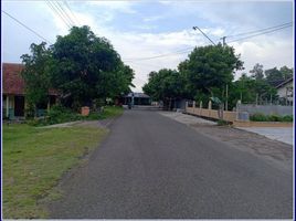
[[[242,70],[242,65],[233,48],[200,46],[179,64],[179,72],[166,69],[151,72],[142,90],[154,99],[163,102],[182,97],[205,104],[210,96],[225,101],[225,86],[231,84],[233,71]]]

